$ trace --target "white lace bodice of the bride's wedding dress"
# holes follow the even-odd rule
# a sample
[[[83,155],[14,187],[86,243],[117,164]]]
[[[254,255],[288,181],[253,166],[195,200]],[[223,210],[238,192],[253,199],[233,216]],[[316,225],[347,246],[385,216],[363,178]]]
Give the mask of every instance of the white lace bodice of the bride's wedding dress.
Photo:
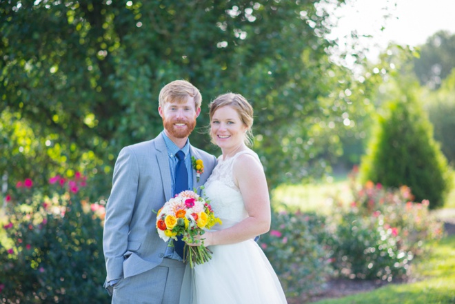
[[[223,221],[223,229],[239,223],[248,216],[241,192],[232,176],[235,159],[245,153],[254,156],[259,161],[259,156],[252,150],[243,150],[225,161],[220,156],[212,175],[205,183],[205,194],[211,201],[215,216]]]

